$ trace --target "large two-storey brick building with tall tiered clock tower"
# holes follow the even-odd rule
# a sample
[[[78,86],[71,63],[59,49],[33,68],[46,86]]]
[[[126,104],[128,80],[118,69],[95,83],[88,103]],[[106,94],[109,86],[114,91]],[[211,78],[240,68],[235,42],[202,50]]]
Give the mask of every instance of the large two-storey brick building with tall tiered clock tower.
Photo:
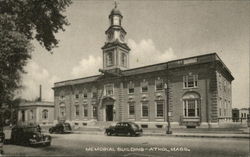
[[[78,126],[96,120],[161,128],[169,105],[173,127],[231,120],[234,78],[216,53],[130,69],[122,18],[117,7],[109,15],[102,74],[54,84],[55,119]]]

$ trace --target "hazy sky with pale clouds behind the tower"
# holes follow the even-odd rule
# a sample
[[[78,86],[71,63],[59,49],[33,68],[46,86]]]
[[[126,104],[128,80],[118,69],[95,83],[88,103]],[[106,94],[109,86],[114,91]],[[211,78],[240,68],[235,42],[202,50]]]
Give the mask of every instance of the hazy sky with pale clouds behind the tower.
[[[78,0],[65,15],[70,26],[56,34],[53,54],[32,41],[23,75],[23,98],[53,101],[55,82],[99,74],[108,16],[114,1]],[[216,52],[230,69],[233,107],[249,106],[250,1],[120,0],[131,48],[130,68]]]

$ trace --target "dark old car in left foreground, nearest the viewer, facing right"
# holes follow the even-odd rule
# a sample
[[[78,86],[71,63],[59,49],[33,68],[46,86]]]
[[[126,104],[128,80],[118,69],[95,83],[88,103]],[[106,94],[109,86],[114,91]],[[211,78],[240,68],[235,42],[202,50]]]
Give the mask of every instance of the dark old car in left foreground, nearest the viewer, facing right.
[[[15,126],[10,141],[12,144],[50,146],[51,136],[43,135],[38,126]]]

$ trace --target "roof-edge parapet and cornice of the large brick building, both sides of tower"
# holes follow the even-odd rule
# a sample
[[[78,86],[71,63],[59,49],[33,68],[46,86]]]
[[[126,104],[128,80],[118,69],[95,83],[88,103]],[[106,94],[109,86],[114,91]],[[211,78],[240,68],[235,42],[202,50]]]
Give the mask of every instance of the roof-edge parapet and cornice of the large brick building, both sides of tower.
[[[179,67],[185,67],[189,65],[203,64],[203,63],[209,63],[209,62],[215,62],[215,61],[221,64],[221,66],[226,71],[230,79],[233,80],[234,78],[230,70],[226,67],[226,65],[222,62],[222,60],[219,58],[219,56],[216,53],[177,59],[173,61],[153,64],[153,65],[148,65],[148,66],[143,66],[143,67],[138,67],[138,68],[133,68],[133,69],[128,69],[128,70],[122,70],[121,76],[133,76],[133,75],[138,75],[138,74],[143,74],[143,73],[157,72],[157,71],[162,71],[162,70],[167,70],[167,69],[172,69],[172,68],[179,68]],[[67,86],[67,85],[94,82],[94,81],[97,81],[97,79],[101,76],[103,75],[95,75],[95,76],[90,76],[90,77],[85,77],[85,78],[78,78],[78,79],[73,79],[73,80],[56,82],[54,85],[54,88]]]

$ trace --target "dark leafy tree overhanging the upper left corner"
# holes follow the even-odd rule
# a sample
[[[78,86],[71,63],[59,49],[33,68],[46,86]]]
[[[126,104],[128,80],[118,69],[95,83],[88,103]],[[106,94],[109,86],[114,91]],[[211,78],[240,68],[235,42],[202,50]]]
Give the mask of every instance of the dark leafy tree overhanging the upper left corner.
[[[69,25],[63,13],[71,0],[0,0],[0,105],[13,99],[31,58],[31,40],[46,50],[58,46],[55,34]]]

